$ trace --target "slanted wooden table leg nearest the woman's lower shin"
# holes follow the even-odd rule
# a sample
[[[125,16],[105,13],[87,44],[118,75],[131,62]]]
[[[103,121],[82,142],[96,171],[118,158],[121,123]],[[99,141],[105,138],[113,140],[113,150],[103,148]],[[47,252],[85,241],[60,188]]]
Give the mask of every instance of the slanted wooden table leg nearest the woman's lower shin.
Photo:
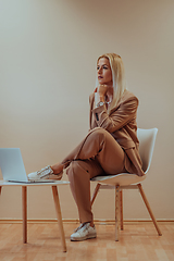
[[[66,252],[66,243],[65,243],[65,237],[64,237],[61,207],[60,207],[60,201],[59,201],[59,195],[58,195],[57,186],[52,186],[52,195],[53,195],[55,212],[57,212],[57,219],[58,219],[58,224],[59,224],[60,234],[61,234],[61,243],[62,243],[63,251]]]

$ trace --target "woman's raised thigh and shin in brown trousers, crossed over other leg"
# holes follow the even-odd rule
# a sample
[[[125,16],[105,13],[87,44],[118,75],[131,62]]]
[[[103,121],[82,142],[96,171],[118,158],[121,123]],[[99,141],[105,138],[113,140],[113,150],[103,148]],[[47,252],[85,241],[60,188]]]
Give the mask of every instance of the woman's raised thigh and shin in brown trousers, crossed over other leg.
[[[62,161],[67,166],[74,160],[97,159],[108,174],[116,174],[124,169],[125,152],[110,133],[96,127]]]

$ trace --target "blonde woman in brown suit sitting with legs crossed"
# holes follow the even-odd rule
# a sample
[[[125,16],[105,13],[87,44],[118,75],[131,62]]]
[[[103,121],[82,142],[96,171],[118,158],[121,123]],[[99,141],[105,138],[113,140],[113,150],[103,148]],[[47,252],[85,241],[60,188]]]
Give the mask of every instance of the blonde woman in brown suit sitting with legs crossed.
[[[85,139],[61,162],[30,173],[29,179],[70,179],[80,226],[71,240],[96,237],[90,204],[90,178],[122,172],[144,175],[138,153],[136,113],[138,99],[126,89],[122,58],[107,53],[97,61],[97,88],[89,97],[90,129]]]

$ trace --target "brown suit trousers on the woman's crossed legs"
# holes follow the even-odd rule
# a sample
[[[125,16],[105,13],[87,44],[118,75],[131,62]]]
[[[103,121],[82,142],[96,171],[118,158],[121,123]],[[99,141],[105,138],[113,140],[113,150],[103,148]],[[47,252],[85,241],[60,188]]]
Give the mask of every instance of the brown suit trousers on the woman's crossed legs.
[[[125,152],[103,128],[96,127],[64,159],[73,197],[80,223],[94,219],[90,203],[90,178],[98,175],[119,174],[124,171]]]

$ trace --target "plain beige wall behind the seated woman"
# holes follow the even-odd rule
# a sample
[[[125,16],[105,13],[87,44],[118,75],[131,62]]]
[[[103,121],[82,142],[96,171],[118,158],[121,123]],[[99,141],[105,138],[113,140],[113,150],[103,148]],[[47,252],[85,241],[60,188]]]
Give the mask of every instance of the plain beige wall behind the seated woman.
[[[157,219],[174,219],[173,25],[173,0],[0,0],[0,147],[20,147],[27,173],[63,159],[88,132],[97,58],[116,52],[140,100],[138,126],[159,128],[145,191]],[[51,197],[29,188],[29,219],[54,219]],[[63,217],[77,219],[67,186],[60,198]],[[124,201],[125,219],[149,217],[138,191]],[[114,219],[113,190],[94,213]],[[2,190],[0,219],[21,219],[20,188]]]

